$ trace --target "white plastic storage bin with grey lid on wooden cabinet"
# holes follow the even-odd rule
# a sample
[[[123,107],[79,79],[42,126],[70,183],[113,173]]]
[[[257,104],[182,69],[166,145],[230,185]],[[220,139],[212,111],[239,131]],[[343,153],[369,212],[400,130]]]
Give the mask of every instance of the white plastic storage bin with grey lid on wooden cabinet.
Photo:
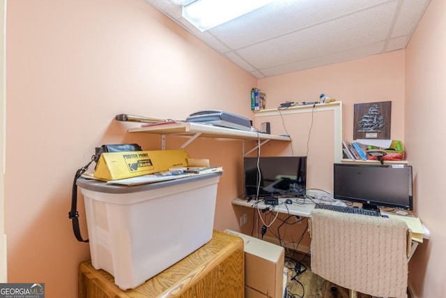
[[[136,288],[212,238],[221,173],[139,186],[78,179],[91,262]]]

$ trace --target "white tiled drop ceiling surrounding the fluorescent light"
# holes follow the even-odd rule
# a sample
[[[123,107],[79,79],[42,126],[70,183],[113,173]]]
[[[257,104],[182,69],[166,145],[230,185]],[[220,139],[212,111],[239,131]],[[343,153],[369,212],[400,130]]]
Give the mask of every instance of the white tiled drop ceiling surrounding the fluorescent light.
[[[181,16],[194,0],[145,1],[263,78],[404,49],[431,0],[277,0],[205,32]]]

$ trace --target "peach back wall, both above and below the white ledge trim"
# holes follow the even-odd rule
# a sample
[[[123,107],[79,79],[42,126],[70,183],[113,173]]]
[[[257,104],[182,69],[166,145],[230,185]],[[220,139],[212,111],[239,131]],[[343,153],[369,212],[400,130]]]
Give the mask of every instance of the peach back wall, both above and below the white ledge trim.
[[[268,77],[259,80],[258,86],[266,91],[267,109],[286,101],[317,101],[321,93],[341,100],[344,140],[353,140],[355,103],[392,101],[391,137],[404,141],[403,51]],[[332,191],[333,114],[315,112],[313,116],[311,112],[287,115],[284,121],[276,117],[271,129],[277,134],[288,131],[293,138],[294,154],[309,156],[309,188]],[[268,149],[272,151],[270,154],[291,154],[291,149],[280,148]]]

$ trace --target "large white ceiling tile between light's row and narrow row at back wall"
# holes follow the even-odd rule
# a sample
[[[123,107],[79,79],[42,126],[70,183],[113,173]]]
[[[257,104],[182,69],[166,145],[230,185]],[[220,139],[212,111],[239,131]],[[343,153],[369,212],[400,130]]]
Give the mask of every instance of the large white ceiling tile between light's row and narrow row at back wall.
[[[244,47],[236,52],[259,69],[320,57],[385,40],[395,3],[376,6],[348,17]],[[364,22],[368,17],[368,22]],[[362,32],[367,32],[364,34]]]

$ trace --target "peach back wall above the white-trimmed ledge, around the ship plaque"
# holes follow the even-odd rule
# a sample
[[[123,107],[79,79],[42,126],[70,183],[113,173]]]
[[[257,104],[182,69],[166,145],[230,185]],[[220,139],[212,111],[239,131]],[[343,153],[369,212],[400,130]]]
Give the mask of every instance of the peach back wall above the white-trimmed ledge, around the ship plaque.
[[[404,140],[404,52],[396,51],[259,80],[267,109],[286,101],[318,101],[321,93],[343,103],[343,136],[353,140],[353,105],[392,101],[391,138]]]

